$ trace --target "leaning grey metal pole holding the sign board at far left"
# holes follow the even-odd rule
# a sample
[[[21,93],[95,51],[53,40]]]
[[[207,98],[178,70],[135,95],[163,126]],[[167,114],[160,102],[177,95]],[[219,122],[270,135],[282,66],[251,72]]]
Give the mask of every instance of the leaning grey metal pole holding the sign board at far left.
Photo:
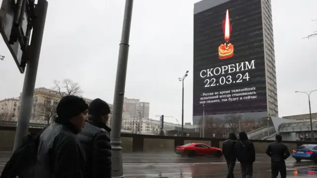
[[[38,72],[41,54],[42,39],[44,34],[46,13],[48,10],[47,0],[38,0],[35,6],[36,18],[32,20],[33,34],[29,48],[29,60],[27,61],[23,89],[21,94],[20,111],[16,125],[13,151],[22,144],[22,137],[28,134],[29,122],[32,115],[33,93]]]

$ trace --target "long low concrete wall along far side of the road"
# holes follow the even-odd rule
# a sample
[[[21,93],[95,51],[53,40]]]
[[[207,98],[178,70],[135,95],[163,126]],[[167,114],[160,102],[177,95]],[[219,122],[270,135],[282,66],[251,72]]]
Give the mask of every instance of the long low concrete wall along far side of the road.
[[[40,129],[30,129],[31,134],[37,134]],[[0,127],[0,150],[12,150],[15,128]],[[223,138],[195,138],[180,136],[159,136],[140,134],[121,134],[123,152],[174,152],[176,146],[186,143],[206,143],[212,147],[222,148]],[[264,153],[267,145],[273,140],[252,140],[257,153]],[[290,152],[298,145],[317,144],[317,142],[283,141]]]

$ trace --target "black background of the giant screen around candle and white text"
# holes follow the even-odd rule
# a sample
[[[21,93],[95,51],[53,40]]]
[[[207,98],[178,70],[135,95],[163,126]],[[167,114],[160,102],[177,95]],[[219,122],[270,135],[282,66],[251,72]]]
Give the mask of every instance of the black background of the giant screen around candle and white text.
[[[230,41],[234,45],[234,56],[220,60],[218,46],[224,44],[222,20],[229,9],[232,31]],[[206,103],[205,112],[209,115],[224,113],[244,113],[266,111],[266,86],[264,63],[264,39],[261,0],[230,0],[194,15],[194,89],[193,116],[203,114],[200,97],[203,92],[224,91],[256,87],[258,98],[232,102]],[[255,60],[256,69],[234,72],[214,77],[201,78],[202,70]],[[242,83],[206,87],[206,79],[221,76],[249,73],[249,81]]]

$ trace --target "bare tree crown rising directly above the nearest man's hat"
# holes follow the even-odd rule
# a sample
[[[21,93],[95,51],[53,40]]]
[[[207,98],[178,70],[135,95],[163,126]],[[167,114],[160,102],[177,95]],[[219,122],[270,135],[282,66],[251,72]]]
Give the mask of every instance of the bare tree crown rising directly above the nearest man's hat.
[[[63,82],[55,80],[53,89],[56,90],[61,97],[65,95],[82,96],[83,94],[79,84],[69,79],[64,79]]]

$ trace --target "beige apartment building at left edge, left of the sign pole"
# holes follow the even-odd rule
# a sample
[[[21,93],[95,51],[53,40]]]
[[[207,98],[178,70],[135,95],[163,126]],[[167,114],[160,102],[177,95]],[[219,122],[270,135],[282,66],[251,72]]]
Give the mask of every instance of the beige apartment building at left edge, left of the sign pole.
[[[6,98],[0,101],[0,120],[16,121],[19,98]]]

